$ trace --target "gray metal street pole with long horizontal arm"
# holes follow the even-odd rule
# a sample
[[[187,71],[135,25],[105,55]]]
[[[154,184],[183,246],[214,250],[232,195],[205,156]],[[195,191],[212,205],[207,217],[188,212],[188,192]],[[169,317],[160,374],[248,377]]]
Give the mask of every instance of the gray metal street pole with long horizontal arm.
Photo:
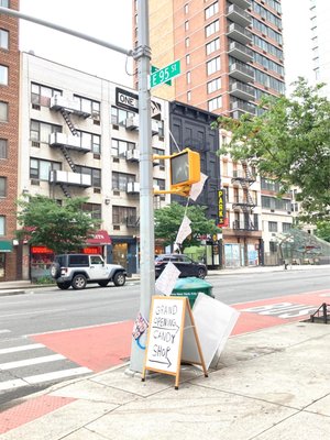
[[[151,135],[151,94],[148,87],[151,50],[148,46],[148,1],[138,1],[138,24],[139,44],[136,51],[118,47],[111,43],[95,38],[94,36],[59,26],[44,20],[25,15],[21,12],[0,7],[0,14],[16,16],[46,28],[76,36],[132,56],[138,61],[139,68],[139,113],[140,113],[140,250],[141,250],[141,297],[140,312],[148,319],[151,297],[155,292],[155,267],[154,267],[154,210],[153,210],[153,161],[152,161],[152,135]],[[143,341],[138,345],[132,338],[131,365],[133,372],[142,373],[146,334],[142,336]]]

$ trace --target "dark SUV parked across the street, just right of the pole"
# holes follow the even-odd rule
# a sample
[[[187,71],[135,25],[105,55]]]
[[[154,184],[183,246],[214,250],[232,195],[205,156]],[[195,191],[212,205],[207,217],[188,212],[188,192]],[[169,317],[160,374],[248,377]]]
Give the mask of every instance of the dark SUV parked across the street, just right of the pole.
[[[155,273],[156,278],[166,267],[167,263],[173,263],[180,271],[180,278],[187,276],[196,276],[198,278],[205,278],[208,270],[204,263],[197,263],[184,254],[161,254],[155,257]]]

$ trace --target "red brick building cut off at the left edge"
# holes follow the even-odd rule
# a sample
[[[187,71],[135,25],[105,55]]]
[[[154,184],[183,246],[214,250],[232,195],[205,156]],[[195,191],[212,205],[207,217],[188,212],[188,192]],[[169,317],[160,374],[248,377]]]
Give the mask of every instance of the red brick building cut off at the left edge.
[[[19,10],[19,0],[0,0]],[[15,240],[18,196],[20,54],[18,19],[0,15],[0,282],[20,277]]]

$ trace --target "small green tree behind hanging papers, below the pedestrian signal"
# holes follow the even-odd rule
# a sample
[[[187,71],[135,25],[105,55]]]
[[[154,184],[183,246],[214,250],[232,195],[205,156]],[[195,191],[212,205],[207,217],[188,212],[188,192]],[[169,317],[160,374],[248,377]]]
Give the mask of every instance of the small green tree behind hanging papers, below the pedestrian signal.
[[[186,216],[191,221],[191,235],[187,238],[183,246],[199,245],[197,234],[215,234],[221,232],[213,220],[208,220],[205,215],[205,207],[189,206]],[[155,210],[155,238],[163,239],[164,245],[174,244],[176,234],[179,230],[185,216],[186,208],[177,202],[173,202],[162,209]]]

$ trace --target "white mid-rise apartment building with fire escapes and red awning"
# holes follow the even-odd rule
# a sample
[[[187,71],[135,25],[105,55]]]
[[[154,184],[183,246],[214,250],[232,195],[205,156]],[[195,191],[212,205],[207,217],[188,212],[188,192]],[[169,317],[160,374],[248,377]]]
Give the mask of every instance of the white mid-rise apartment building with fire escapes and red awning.
[[[109,80],[30,53],[21,54],[19,194],[42,194],[59,204],[88,197],[84,209],[101,229],[82,252],[139,271],[139,96]],[[168,109],[153,99],[152,147],[167,154]],[[165,161],[154,185],[165,189]],[[167,196],[155,196],[160,208]],[[52,252],[24,245],[24,277],[46,274]]]

